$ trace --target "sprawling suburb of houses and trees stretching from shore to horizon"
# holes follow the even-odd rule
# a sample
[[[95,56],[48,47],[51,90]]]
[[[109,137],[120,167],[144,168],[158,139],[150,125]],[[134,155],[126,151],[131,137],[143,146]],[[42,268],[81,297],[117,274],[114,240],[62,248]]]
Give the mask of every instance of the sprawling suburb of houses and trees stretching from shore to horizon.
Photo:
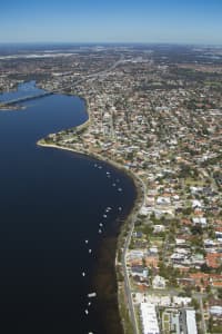
[[[115,261],[132,333],[222,333],[222,49],[97,47],[36,67],[39,87],[82,97],[89,112],[40,144],[137,179],[140,203]],[[0,87],[24,80],[22,60],[19,68],[4,67]]]

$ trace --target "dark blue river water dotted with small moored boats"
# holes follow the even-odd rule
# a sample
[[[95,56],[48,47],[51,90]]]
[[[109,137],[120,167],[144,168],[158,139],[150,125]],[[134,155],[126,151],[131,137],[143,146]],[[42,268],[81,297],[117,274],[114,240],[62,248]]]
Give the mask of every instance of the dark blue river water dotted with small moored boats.
[[[29,82],[0,100],[33,92]],[[121,218],[119,206],[122,216],[130,210],[134,187],[103,163],[36,145],[87,120],[83,100],[53,95],[24,106],[0,111],[0,332],[104,334],[97,298],[84,313],[87,294],[101,238]]]

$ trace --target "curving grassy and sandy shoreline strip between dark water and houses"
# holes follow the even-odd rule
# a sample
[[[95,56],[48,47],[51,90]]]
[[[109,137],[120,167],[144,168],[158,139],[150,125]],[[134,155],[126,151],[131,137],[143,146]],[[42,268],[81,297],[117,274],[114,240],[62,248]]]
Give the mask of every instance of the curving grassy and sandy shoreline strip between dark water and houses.
[[[83,98],[81,96],[80,96],[80,98],[84,100],[88,119],[83,124],[74,127],[74,129],[78,130],[78,132],[87,130],[88,127],[91,125],[88,101],[85,98]],[[115,327],[114,331],[117,334],[119,334],[119,333],[125,333],[125,334],[138,333],[137,318],[135,318],[134,308],[132,305],[132,296],[131,296],[131,294],[129,295],[129,293],[128,293],[129,277],[128,277],[128,272],[127,272],[125,254],[127,254],[130,240],[131,240],[131,235],[132,235],[132,232],[134,228],[137,215],[138,215],[141,206],[144,203],[145,189],[144,189],[144,185],[143,185],[142,180],[140,179],[139,176],[137,176],[130,169],[125,168],[123,165],[120,165],[119,163],[111,160],[110,158],[105,157],[104,155],[94,153],[93,150],[89,150],[85,148],[84,149],[71,148],[69,146],[58,145],[58,144],[49,144],[49,143],[46,143],[43,138],[39,139],[37,141],[37,145],[41,146],[41,147],[51,147],[51,148],[57,148],[57,149],[62,149],[62,150],[69,150],[69,151],[75,153],[75,154],[85,155],[88,157],[92,157],[94,159],[104,161],[104,163],[111,165],[112,167],[117,168],[121,173],[124,173],[125,175],[128,175],[128,177],[130,177],[130,179],[132,180],[132,183],[135,187],[135,194],[137,194],[135,199],[134,199],[131,210],[124,217],[123,223],[121,224],[121,226],[118,227],[117,238],[115,238],[115,243],[114,243],[114,246],[115,246],[114,254],[113,254],[112,258],[109,258],[109,264],[112,265],[113,269],[114,269],[114,275],[115,275],[114,283],[117,286],[118,316],[120,317],[120,324],[122,327],[121,331],[117,332],[117,327],[114,324],[114,327]],[[109,244],[109,240],[107,240],[107,244]],[[111,245],[113,245],[112,242],[111,242]],[[113,250],[113,249],[110,249],[110,250]],[[104,261],[103,261],[103,263],[104,263]],[[110,276],[113,278],[112,273],[110,274]],[[99,284],[98,284],[98,288],[99,288]],[[102,293],[103,288],[101,287],[100,289]],[[100,293],[99,293],[99,295],[100,295]],[[107,303],[108,306],[109,306],[110,302],[111,302],[110,296],[107,296],[107,299],[104,297],[104,303]],[[113,303],[113,301],[112,301],[112,303]],[[115,314],[115,316],[117,316],[117,314]],[[113,318],[112,318],[112,322],[113,322]],[[110,333],[110,334],[113,333],[112,325],[110,326],[109,331],[110,332],[108,332],[108,333]]]

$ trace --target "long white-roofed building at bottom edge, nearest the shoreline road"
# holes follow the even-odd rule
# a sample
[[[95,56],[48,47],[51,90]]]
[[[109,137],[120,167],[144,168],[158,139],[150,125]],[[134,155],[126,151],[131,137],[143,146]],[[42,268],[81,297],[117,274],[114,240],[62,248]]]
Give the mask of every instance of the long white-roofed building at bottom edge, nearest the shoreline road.
[[[141,303],[140,311],[143,334],[160,334],[155,305],[151,303]]]

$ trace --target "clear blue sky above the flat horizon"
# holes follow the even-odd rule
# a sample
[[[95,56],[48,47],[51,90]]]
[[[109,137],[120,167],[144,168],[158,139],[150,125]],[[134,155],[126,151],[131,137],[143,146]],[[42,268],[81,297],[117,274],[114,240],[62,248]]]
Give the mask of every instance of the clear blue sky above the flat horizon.
[[[222,0],[1,0],[1,42],[222,45]]]

